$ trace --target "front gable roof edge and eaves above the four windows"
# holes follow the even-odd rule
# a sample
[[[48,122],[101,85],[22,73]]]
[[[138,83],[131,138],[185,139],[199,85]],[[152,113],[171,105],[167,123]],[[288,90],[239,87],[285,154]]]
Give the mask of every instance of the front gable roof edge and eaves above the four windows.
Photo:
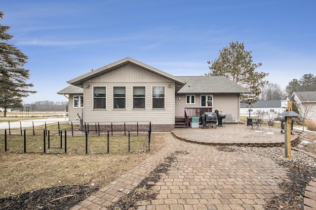
[[[90,80],[90,79],[93,79],[95,77],[98,77],[100,75],[103,75],[105,73],[108,73],[110,71],[113,71],[121,66],[124,66],[124,65],[127,65],[129,63],[132,63],[136,66],[139,66],[140,68],[143,68],[147,71],[150,71],[158,76],[161,76],[163,78],[166,78],[168,80],[171,80],[171,81],[174,81],[176,83],[180,83],[180,84],[185,84],[185,81],[178,78],[178,77],[175,77],[175,76],[172,76],[171,74],[168,74],[166,72],[163,72],[163,71],[160,71],[158,70],[157,68],[154,68],[154,67],[151,67],[147,64],[144,64],[142,62],[139,62],[137,60],[134,60],[134,59],[131,59],[131,58],[125,58],[125,59],[122,59],[122,60],[118,60],[114,63],[111,63],[109,65],[106,65],[106,66],[103,66],[101,68],[98,68],[96,70],[93,70],[91,72],[88,72],[86,74],[83,74],[79,77],[76,77],[72,80],[69,80],[67,81],[67,83],[71,84],[71,85],[75,85],[75,86],[79,86],[79,87],[82,87],[83,86],[83,82],[87,81],[87,80]]]

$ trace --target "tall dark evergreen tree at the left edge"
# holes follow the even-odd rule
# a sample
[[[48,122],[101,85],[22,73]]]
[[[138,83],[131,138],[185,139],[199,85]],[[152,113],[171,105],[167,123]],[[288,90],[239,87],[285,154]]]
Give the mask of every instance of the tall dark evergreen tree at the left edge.
[[[3,19],[0,11],[0,20]],[[0,25],[0,107],[4,109],[4,117],[8,108],[23,107],[22,98],[36,91],[27,90],[33,87],[26,81],[30,78],[30,70],[23,68],[27,62],[25,56],[8,41],[13,38],[7,33],[10,27]]]

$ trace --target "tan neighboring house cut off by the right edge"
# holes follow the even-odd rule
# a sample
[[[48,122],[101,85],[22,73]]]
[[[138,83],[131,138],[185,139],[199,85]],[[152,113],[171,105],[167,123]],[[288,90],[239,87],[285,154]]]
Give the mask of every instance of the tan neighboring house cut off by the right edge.
[[[302,117],[316,121],[316,91],[293,92],[291,100],[296,103]]]

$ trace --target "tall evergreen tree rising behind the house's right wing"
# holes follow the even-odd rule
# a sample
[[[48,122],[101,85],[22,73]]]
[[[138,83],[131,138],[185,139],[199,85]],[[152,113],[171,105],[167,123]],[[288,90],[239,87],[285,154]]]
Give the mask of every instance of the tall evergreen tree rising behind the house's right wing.
[[[251,91],[251,95],[257,97],[261,93],[261,88],[268,84],[264,80],[268,73],[257,72],[256,68],[262,63],[252,63],[251,51],[244,49],[243,42],[231,42],[219,51],[218,59],[208,61],[209,73],[205,75],[223,75],[235,83]]]

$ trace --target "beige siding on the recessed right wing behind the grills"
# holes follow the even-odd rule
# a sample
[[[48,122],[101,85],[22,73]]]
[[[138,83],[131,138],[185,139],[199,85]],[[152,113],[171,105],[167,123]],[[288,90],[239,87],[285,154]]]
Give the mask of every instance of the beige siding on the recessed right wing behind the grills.
[[[201,107],[201,95],[207,94],[190,94],[195,95],[195,104],[186,104],[186,95],[177,94],[175,100],[175,116],[184,117],[184,108]],[[181,100],[178,100],[181,97]],[[236,104],[239,103],[239,95],[237,94],[213,94],[212,110],[223,111],[226,114],[231,114],[233,118],[239,119],[239,108]]]

